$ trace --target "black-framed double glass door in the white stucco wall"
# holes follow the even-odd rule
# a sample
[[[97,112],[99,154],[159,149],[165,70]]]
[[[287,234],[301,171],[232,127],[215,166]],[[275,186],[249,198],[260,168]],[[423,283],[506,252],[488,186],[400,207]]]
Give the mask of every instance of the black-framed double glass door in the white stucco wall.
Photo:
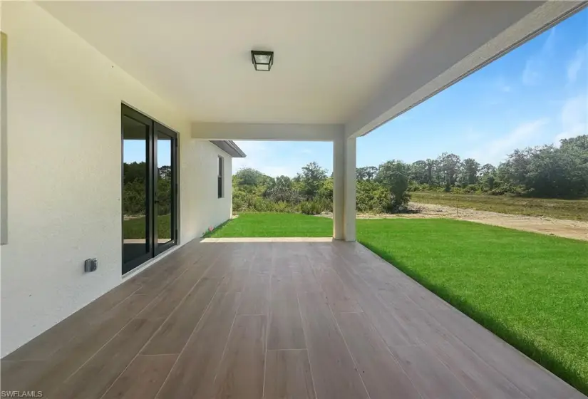
[[[177,242],[177,135],[123,105],[123,274]]]

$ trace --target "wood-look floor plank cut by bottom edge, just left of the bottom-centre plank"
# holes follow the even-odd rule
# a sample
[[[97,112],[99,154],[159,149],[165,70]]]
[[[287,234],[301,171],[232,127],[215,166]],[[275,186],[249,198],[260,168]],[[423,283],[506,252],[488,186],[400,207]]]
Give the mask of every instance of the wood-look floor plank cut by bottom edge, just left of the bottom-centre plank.
[[[237,316],[215,378],[215,398],[262,397],[266,326],[267,316]]]

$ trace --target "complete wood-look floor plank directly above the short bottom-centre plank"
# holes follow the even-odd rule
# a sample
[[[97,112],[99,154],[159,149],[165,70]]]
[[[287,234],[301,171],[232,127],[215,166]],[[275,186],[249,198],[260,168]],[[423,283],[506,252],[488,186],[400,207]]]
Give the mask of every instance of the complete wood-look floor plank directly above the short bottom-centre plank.
[[[304,349],[304,331],[292,278],[272,278],[268,349]]]

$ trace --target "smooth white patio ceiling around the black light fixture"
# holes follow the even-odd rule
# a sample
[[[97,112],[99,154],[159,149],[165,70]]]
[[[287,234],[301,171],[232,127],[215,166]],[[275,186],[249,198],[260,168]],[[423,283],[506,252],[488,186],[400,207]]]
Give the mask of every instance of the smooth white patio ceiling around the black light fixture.
[[[383,89],[406,98],[542,3],[40,4],[192,120],[344,124]],[[254,71],[252,49],[275,51],[272,71]]]

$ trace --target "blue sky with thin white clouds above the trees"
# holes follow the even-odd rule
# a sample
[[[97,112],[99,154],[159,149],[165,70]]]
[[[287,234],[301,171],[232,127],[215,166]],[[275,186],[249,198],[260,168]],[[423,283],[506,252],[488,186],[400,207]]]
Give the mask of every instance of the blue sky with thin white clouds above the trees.
[[[497,165],[515,148],[588,134],[588,9],[357,140],[357,165],[414,162],[453,152]],[[294,176],[316,161],[329,171],[330,142],[237,141],[254,167]]]

